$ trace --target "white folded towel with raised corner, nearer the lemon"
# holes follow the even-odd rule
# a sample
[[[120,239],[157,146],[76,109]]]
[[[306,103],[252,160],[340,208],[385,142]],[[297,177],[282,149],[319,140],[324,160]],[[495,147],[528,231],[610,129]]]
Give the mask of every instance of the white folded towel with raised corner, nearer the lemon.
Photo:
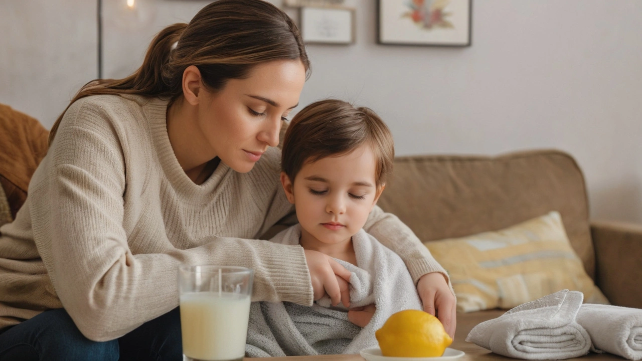
[[[589,353],[591,339],[576,321],[584,294],[562,290],[475,326],[466,337],[494,353],[526,360],[563,360]]]

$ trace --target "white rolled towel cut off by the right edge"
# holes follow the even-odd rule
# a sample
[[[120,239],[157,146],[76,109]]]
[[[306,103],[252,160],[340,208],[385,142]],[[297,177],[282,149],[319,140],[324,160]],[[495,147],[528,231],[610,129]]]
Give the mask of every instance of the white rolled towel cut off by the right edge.
[[[642,360],[642,310],[606,304],[584,304],[577,322],[586,328],[593,351]]]

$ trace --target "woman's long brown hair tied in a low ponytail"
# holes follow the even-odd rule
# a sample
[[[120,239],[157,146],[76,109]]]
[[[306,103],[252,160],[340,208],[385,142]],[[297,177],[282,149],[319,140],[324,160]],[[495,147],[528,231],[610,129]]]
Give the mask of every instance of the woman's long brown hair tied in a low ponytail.
[[[286,13],[263,0],[218,0],[202,8],[189,24],[161,30],[134,74],[92,80],[71,103],[85,96],[126,93],[162,96],[171,104],[182,95],[183,73],[188,66],[198,67],[205,87],[218,91],[227,80],[248,76],[257,64],[285,59],[301,60],[309,75],[299,28]],[[51,128],[49,145],[67,109]]]

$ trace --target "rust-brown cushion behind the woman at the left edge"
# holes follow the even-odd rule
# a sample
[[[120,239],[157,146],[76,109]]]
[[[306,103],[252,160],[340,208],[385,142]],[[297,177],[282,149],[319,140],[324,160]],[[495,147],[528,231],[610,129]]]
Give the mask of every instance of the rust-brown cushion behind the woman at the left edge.
[[[27,197],[31,175],[47,153],[48,136],[36,119],[0,104],[0,186],[13,218]]]

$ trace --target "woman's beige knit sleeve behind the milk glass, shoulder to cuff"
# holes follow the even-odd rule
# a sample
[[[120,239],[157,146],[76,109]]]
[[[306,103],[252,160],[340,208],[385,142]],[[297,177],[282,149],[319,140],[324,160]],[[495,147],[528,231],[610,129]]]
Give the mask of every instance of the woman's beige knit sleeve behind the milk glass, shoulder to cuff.
[[[132,254],[123,227],[130,221],[124,195],[133,191],[120,146],[126,137],[95,106],[74,105],[67,112],[32,183],[31,219],[56,293],[86,337],[116,339],[175,308],[180,263],[249,267],[255,300],[312,303],[306,256],[298,245],[211,237],[182,250],[168,247],[163,225],[148,225],[153,236],[137,242],[157,251]]]

